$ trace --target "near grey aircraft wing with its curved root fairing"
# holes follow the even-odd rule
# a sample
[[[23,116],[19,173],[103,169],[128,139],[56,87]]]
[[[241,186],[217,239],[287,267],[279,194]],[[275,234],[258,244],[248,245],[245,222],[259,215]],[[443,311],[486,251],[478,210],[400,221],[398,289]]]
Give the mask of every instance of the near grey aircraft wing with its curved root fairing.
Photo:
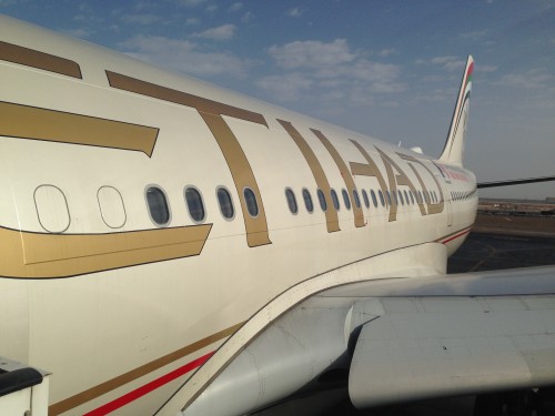
[[[323,291],[274,319],[183,415],[244,414],[342,384],[360,408],[554,385],[555,266]]]

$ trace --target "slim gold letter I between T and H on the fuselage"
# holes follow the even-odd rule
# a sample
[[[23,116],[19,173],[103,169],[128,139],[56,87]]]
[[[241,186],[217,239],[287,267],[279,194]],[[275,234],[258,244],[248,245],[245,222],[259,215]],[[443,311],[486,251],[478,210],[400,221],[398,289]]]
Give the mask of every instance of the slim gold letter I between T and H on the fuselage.
[[[299,133],[299,131],[289,121],[278,119],[278,122],[283,126],[283,129],[285,129],[291,139],[293,139],[295,144],[299,146],[299,150],[303,154],[306,163],[309,164],[309,168],[312,171],[314,181],[316,181],[316,186],[322,190],[324,194],[324,199],[327,205],[327,210],[325,211],[327,232],[332,233],[334,231],[340,231],[341,229],[337,220],[337,211],[335,211],[331,200],[330,182],[327,182],[327,177],[322,165],[320,164],[320,161],[310,148],[309,143],[306,143],[301,133]]]

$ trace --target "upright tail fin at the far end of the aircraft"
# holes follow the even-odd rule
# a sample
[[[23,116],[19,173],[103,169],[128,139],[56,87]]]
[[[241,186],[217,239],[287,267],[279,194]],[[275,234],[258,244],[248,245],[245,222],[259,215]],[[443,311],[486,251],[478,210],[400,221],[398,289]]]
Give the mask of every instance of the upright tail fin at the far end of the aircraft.
[[[463,82],[458,91],[455,111],[451,120],[450,132],[445,142],[445,148],[440,156],[440,161],[463,165],[464,136],[466,134],[466,122],[468,121],[468,105],[471,99],[472,73],[474,72],[474,59],[468,55],[466,68],[464,69]]]

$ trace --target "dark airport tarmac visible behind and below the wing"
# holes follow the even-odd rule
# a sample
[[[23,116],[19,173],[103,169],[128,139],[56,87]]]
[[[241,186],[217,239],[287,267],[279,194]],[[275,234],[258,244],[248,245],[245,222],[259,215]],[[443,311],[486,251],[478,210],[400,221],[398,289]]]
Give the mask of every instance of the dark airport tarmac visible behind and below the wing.
[[[473,232],[450,258],[448,273],[555,264],[555,217],[478,214]],[[356,410],[349,398],[323,416],[471,416],[474,396]],[[555,413],[554,413],[555,414]]]

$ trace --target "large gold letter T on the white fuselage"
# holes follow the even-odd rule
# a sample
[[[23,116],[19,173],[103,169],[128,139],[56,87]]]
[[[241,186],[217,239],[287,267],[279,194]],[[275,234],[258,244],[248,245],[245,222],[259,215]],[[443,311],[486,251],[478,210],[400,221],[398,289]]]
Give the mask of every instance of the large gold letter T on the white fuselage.
[[[120,73],[105,71],[108,81],[112,88],[134,92],[141,95],[151,97],[154,99],[176,103],[180,105],[191,106],[199,111],[202,120],[206,123],[216,140],[228,166],[233,176],[235,190],[241,202],[243,219],[246,232],[246,242],[250,247],[271,244],[268,221],[264,211],[264,204],[260,193],[259,185],[252,172],[251,165],[246,155],[241,148],[238,139],[231,131],[230,126],[223,119],[223,115],[232,116],[240,120],[250,121],[261,124],[268,129],[268,123],[262,114],[243,110],[233,105],[223,104],[216,101],[208,100],[186,92],[173,90],[167,87],[153,84],[147,81],[141,81]],[[250,187],[256,196],[259,203],[259,214],[256,217],[250,216],[246,210],[243,190]]]

